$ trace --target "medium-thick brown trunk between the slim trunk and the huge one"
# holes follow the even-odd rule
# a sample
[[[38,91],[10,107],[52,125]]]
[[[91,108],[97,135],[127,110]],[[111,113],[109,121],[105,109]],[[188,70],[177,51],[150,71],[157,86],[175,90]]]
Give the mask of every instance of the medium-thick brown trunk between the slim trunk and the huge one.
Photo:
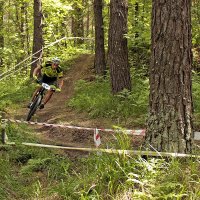
[[[110,1],[108,54],[112,93],[131,90],[127,47],[127,0]]]

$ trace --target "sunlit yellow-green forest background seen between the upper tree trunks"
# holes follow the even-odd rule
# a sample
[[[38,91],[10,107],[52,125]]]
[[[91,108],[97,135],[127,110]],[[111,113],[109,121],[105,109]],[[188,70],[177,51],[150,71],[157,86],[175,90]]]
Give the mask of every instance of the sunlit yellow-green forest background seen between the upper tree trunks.
[[[151,26],[151,2],[146,0],[128,2],[128,46],[149,47]],[[192,41],[198,47],[199,1],[192,1]],[[1,1],[1,71],[6,71],[31,55],[33,46],[33,2]],[[84,37],[94,39],[93,2],[88,1],[42,1],[42,28],[44,38],[44,57],[58,54],[67,56],[66,51],[77,44],[75,39],[62,40],[63,37]],[[105,47],[108,44],[109,1],[103,2]],[[78,26],[78,28],[77,28]],[[38,44],[39,45],[39,44]],[[94,40],[83,40],[82,48],[94,50]],[[194,56],[197,52],[194,52]],[[197,60],[195,60],[197,61]],[[194,66],[194,68],[197,65]]]

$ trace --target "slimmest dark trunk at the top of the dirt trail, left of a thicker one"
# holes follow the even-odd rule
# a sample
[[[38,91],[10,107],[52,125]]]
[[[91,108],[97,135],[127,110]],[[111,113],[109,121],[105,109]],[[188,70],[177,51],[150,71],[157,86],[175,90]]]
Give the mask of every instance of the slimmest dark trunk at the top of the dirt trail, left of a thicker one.
[[[106,73],[102,7],[103,7],[102,0],[94,0],[94,19],[95,19],[94,68],[97,75],[105,75]]]

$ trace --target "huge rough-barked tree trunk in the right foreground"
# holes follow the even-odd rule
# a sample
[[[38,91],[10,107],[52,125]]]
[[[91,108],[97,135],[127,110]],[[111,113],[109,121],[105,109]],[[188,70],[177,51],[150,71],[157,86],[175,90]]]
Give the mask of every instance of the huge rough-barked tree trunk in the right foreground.
[[[153,1],[146,144],[191,152],[191,0]]]

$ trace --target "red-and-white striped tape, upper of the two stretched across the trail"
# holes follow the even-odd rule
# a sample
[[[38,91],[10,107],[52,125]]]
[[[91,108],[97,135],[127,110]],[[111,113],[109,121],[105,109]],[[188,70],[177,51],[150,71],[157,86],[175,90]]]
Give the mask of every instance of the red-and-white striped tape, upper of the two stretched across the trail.
[[[22,120],[14,120],[14,119],[2,119],[5,122],[13,122],[13,123],[24,123],[24,124],[31,124],[31,125],[38,125],[38,126],[46,126],[46,127],[58,127],[58,128],[70,128],[70,129],[79,129],[79,130],[91,130],[91,131],[104,131],[104,132],[117,132],[122,130],[114,130],[114,129],[103,129],[103,128],[86,128],[86,127],[79,127],[79,126],[69,126],[69,125],[62,125],[62,124],[49,124],[49,123],[40,123],[40,122],[32,122],[32,121],[22,121]],[[123,130],[123,132],[127,135],[139,135],[145,136],[145,129],[141,130]]]

